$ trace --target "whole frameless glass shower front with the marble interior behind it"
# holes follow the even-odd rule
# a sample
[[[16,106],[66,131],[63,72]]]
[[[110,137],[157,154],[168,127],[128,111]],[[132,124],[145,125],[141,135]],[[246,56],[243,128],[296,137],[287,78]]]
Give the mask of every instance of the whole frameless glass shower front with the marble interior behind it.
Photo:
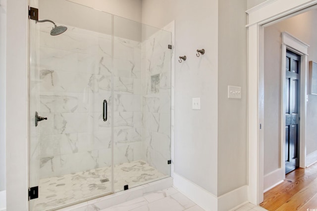
[[[31,210],[169,177],[170,32],[67,0],[33,4],[50,21],[29,21]],[[52,36],[51,21],[67,30]],[[35,112],[47,118],[37,127]]]

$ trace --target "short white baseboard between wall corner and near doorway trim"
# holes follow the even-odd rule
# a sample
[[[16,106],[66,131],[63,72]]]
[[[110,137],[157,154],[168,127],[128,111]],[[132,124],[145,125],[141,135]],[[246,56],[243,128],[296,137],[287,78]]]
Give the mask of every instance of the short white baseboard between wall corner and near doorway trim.
[[[218,211],[233,210],[248,203],[248,185],[218,197]]]

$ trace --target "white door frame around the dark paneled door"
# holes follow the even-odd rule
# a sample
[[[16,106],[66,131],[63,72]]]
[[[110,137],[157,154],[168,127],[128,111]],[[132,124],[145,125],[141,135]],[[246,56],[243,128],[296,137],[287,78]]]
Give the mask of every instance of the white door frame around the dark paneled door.
[[[306,124],[306,108],[307,108],[307,73],[308,73],[308,47],[309,45],[295,38],[287,32],[282,32],[282,67],[281,67],[281,160],[280,167],[283,172],[283,180],[285,179],[285,77],[286,77],[286,50],[291,50],[301,56],[301,79],[300,79],[300,142],[299,142],[299,167],[305,168],[305,124]]]

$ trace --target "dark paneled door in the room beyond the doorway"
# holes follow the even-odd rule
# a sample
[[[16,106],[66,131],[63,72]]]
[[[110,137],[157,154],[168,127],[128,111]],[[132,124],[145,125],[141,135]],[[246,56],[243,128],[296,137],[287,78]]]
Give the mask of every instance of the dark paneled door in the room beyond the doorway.
[[[286,51],[285,173],[299,167],[301,56]]]

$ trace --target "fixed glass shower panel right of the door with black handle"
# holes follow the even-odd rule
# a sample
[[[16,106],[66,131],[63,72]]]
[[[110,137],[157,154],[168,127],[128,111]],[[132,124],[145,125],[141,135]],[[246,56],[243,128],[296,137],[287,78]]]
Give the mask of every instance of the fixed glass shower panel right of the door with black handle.
[[[114,192],[170,176],[171,33],[114,16]]]

